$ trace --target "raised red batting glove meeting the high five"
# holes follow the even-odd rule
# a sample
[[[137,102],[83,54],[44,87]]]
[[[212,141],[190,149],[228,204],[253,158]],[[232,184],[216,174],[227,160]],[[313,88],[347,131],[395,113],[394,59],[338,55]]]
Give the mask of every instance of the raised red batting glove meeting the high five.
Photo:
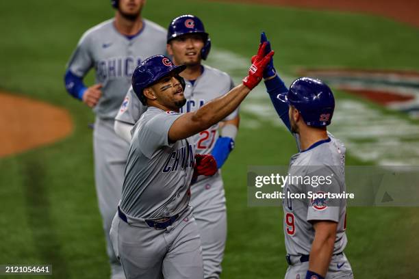
[[[273,51],[264,55],[266,49],[267,42],[263,44],[259,44],[259,49],[257,49],[257,55],[252,57],[252,65],[249,68],[249,75],[244,77],[243,84],[246,85],[247,88],[252,90],[262,81],[262,77],[264,75],[264,70],[266,65],[268,65],[270,59],[274,55]]]

